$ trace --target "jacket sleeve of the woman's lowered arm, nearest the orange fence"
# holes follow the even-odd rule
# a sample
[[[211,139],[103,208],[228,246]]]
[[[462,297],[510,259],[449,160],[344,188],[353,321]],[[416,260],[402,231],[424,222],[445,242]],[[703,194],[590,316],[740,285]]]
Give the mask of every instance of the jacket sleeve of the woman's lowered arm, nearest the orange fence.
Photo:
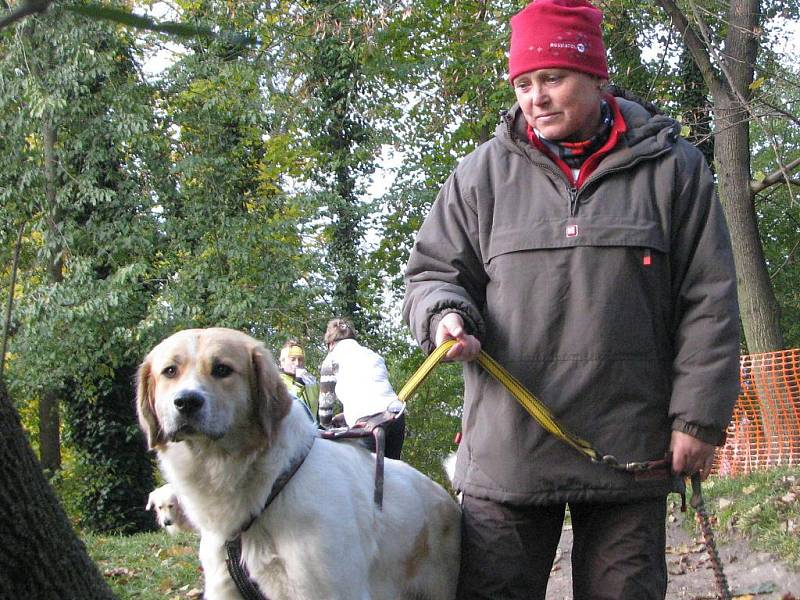
[[[722,444],[739,394],[739,307],[730,236],[714,181],[691,149],[679,170],[670,259],[672,429]]]

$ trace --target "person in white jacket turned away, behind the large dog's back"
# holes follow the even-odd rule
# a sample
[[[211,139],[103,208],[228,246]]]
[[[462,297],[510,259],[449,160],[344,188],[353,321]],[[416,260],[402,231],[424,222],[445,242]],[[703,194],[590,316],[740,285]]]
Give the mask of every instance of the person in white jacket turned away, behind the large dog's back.
[[[320,425],[352,427],[365,417],[387,410],[397,413],[397,418],[386,426],[385,455],[399,459],[405,439],[405,405],[389,383],[383,358],[356,341],[356,332],[345,319],[328,322],[324,341],[328,355],[320,367]],[[337,400],[343,411],[334,416]],[[374,451],[374,440],[366,439]]]

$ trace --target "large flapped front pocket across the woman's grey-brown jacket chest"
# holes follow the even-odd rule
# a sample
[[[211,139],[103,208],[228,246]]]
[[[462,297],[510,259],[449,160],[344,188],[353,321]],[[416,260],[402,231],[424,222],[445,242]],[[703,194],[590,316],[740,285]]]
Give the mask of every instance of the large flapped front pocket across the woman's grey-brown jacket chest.
[[[657,223],[561,220],[495,238],[486,306],[504,342],[528,331],[554,344],[551,356],[653,357],[669,347],[669,252]]]

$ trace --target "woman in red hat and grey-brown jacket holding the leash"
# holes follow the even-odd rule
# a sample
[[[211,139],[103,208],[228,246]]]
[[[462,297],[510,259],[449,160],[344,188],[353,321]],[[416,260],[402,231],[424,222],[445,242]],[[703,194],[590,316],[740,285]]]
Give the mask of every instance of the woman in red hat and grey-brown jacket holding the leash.
[[[707,477],[738,394],[730,239],[680,125],[616,98],[602,13],[536,0],[511,19],[517,103],[444,183],[403,316],[456,340],[465,395],[459,600],[543,599],[565,510],[576,600],[665,597],[669,469],[593,463],[483,371],[481,349],[621,462]],[[669,453],[669,454],[668,454]]]

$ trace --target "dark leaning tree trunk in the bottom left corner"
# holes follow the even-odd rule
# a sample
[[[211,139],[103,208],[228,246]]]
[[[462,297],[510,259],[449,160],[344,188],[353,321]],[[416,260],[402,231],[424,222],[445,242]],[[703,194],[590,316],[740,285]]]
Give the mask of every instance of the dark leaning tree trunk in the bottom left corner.
[[[110,600],[72,531],[0,380],[0,596]]]

